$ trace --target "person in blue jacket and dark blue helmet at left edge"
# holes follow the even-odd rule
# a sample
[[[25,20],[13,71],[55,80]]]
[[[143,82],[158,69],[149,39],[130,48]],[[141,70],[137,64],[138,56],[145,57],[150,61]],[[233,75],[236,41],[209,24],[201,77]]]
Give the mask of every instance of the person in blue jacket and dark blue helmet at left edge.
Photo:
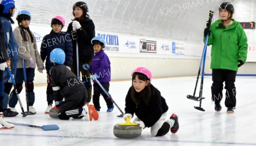
[[[1,0],[0,3],[4,6],[3,14],[1,17],[1,22],[3,24],[3,31],[5,37],[5,43],[7,48],[7,54],[9,60],[11,60],[10,68],[12,76],[15,76],[17,69],[17,61],[19,60],[19,51],[17,47],[17,43],[12,31],[12,25],[14,21],[12,17],[15,13],[15,1],[14,0]],[[4,91],[3,91],[3,115],[5,117],[15,117],[17,113],[13,112],[11,109],[8,109],[8,100],[9,94],[12,89],[12,80],[9,75],[7,68],[3,72],[3,83],[4,83]]]

